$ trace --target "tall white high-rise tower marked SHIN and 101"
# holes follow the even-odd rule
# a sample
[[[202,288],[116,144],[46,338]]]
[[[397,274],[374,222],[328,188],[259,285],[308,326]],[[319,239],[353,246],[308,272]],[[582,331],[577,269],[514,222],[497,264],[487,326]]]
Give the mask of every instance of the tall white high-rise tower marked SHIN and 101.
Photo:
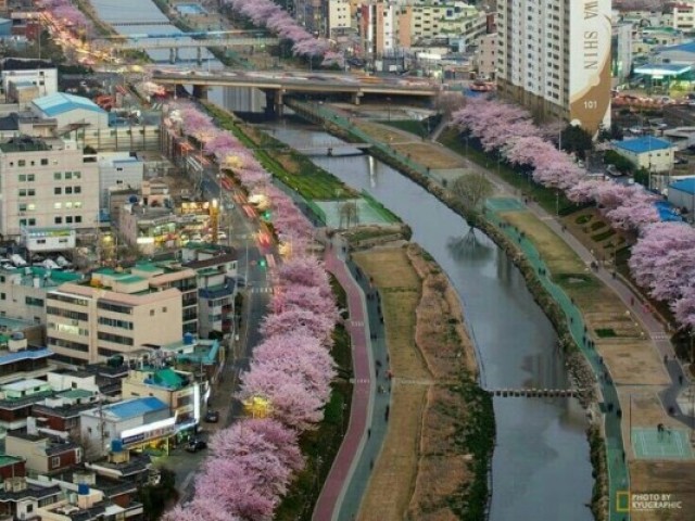
[[[497,85],[546,119],[610,125],[610,0],[497,0]]]

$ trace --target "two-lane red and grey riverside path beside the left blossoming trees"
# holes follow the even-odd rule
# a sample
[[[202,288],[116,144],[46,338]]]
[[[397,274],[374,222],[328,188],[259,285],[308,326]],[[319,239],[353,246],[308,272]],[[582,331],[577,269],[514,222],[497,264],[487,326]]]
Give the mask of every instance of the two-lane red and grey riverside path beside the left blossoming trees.
[[[369,474],[386,437],[388,393],[376,393],[380,378],[386,379],[388,356],[383,328],[376,313],[378,296],[366,277],[348,258],[346,244],[339,238],[326,241],[326,268],[348,295],[354,387],[350,422],[338,455],[321,488],[312,519],[314,521],[352,520],[359,511]],[[359,281],[359,282],[358,282]],[[369,302],[365,294],[374,295]],[[369,338],[369,342],[367,341]],[[386,384],[386,382],[384,382]],[[374,412],[378,412],[375,415]]]

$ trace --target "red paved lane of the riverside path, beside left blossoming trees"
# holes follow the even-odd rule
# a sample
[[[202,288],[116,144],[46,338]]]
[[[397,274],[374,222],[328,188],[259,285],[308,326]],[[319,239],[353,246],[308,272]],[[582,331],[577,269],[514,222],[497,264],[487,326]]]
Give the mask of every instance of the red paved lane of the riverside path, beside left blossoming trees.
[[[328,271],[338,279],[348,294],[350,320],[345,323],[345,328],[352,339],[355,383],[352,392],[348,431],[316,501],[312,518],[314,521],[329,521],[333,517],[333,511],[339,504],[340,493],[345,482],[349,481],[352,463],[357,458],[361,442],[367,427],[371,385],[362,290],[353,280],[345,264],[336,257],[334,249],[327,251],[325,262]]]

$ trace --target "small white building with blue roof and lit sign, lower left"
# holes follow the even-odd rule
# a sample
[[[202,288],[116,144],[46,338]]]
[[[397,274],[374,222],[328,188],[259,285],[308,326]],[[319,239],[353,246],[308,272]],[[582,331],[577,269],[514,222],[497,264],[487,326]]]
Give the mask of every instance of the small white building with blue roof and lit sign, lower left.
[[[112,442],[123,450],[151,447],[168,454],[176,417],[164,402],[148,396],[83,411],[80,431],[90,457],[105,456]]]

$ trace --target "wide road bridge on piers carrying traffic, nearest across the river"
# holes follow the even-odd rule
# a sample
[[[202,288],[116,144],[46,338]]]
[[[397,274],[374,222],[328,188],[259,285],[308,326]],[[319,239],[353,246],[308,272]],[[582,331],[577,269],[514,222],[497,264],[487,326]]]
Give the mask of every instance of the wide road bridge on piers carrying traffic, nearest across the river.
[[[204,98],[208,87],[250,87],[265,92],[268,112],[282,112],[283,97],[293,93],[349,94],[359,104],[365,94],[382,97],[433,98],[441,91],[438,82],[394,76],[356,76],[314,72],[244,71],[153,71],[152,81],[160,85],[192,85],[193,94]]]

